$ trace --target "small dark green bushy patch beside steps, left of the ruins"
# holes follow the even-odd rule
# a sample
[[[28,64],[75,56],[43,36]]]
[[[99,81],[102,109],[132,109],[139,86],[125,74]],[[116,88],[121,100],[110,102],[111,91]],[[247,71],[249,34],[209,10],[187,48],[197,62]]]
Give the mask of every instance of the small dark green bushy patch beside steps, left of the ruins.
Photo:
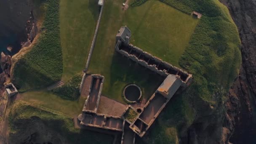
[[[77,74],[71,77],[64,85],[59,88],[53,89],[53,93],[60,96],[63,99],[76,100],[80,96],[80,83],[82,81],[83,74]]]

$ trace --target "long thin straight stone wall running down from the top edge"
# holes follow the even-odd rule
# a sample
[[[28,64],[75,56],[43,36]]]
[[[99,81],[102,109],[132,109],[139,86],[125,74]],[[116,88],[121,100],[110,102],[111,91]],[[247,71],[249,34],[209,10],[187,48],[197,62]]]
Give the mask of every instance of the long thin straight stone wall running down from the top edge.
[[[104,0],[102,0],[102,1],[103,2],[102,2],[102,6],[101,6],[101,11],[99,13],[99,18],[98,18],[98,21],[97,21],[97,25],[96,25],[96,29],[95,29],[94,35],[93,35],[93,40],[91,42],[91,48],[90,48],[90,51],[89,51],[89,54],[88,54],[88,58],[87,58],[87,61],[86,61],[86,64],[85,64],[85,69],[84,69],[85,73],[87,72],[89,64],[90,64],[90,61],[91,61],[91,56],[93,54],[94,45],[95,45],[96,38],[97,38],[97,35],[98,35],[98,31],[99,31],[99,24],[101,23],[101,17],[102,17],[103,8],[104,8]]]

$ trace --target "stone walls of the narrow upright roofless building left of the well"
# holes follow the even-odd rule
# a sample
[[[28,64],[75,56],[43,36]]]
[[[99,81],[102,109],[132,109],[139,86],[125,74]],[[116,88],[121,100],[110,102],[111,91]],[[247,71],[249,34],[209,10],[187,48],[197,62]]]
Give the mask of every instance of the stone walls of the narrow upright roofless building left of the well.
[[[101,96],[101,92],[102,92],[102,88],[103,88],[103,84],[104,84],[104,76],[98,75],[98,74],[94,74],[94,75],[91,75],[91,76],[92,76],[92,82],[91,82],[91,85],[90,85],[90,88],[89,88],[89,95],[87,96],[87,99],[85,100],[85,104],[83,106],[83,112],[96,113],[98,111],[100,96]],[[98,96],[97,96],[96,108],[94,110],[89,110],[89,109],[86,108],[86,106],[88,105],[88,101],[90,99],[90,94],[91,94],[91,90],[92,90],[92,86],[93,86],[93,79],[101,79],[101,84],[100,84],[99,93],[98,93]]]

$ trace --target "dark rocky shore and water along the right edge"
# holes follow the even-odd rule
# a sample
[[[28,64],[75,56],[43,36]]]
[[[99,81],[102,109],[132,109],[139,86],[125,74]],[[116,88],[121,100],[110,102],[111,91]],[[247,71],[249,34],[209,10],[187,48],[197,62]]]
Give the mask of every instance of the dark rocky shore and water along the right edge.
[[[230,142],[255,144],[256,1],[221,0],[221,2],[229,8],[229,12],[238,27],[243,59],[240,74],[229,90],[226,102],[227,115],[223,125],[230,130]]]

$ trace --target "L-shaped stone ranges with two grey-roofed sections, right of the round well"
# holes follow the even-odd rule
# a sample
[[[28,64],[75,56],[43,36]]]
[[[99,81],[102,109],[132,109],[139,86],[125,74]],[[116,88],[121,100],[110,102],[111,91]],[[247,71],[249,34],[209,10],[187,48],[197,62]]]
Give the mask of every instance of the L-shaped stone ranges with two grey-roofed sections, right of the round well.
[[[131,30],[126,26],[121,27],[116,35],[115,50],[128,59],[140,64],[142,67],[146,67],[166,77],[143,107],[137,119],[133,123],[130,123],[129,128],[142,137],[174,93],[180,87],[185,88],[192,82],[192,75],[130,44],[130,38]]]

